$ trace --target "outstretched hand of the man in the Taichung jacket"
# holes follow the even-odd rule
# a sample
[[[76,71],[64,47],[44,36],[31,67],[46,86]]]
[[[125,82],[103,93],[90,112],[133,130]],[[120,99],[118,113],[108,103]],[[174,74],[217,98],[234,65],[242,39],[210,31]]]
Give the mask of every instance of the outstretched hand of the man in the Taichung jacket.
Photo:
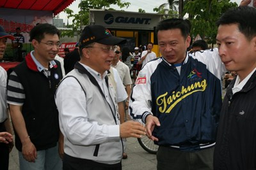
[[[153,141],[158,141],[158,138],[155,136],[152,136],[152,132],[155,128],[155,126],[160,126],[160,122],[157,117],[154,117],[153,115],[148,115],[146,120],[146,130],[147,130],[147,136],[149,139],[152,139]]]

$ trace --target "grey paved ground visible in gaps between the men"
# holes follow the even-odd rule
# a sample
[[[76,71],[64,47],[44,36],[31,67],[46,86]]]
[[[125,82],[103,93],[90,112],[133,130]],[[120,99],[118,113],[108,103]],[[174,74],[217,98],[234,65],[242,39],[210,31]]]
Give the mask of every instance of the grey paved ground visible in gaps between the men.
[[[141,148],[136,138],[127,138],[127,148],[125,152],[127,159],[122,160],[123,170],[131,169],[156,169],[156,155],[147,153]],[[19,170],[19,157],[15,147],[10,153],[9,170]]]

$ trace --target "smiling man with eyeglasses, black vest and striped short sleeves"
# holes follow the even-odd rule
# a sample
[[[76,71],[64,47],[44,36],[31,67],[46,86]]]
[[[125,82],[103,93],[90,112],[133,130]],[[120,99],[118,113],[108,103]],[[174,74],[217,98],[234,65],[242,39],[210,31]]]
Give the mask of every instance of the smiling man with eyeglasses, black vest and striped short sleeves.
[[[38,24],[29,36],[35,50],[13,68],[7,87],[20,169],[62,169],[54,102],[62,79],[60,62],[54,60],[61,45],[60,31],[51,24]],[[60,154],[62,151],[60,148]]]

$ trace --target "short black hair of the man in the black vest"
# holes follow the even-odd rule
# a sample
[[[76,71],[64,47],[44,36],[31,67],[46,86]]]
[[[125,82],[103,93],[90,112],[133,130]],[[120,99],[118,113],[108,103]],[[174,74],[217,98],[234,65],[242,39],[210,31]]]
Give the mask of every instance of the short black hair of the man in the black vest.
[[[36,39],[36,41],[41,42],[42,39],[44,39],[45,34],[57,34],[60,38],[60,30],[58,30],[54,25],[51,24],[38,24],[31,29],[29,32],[30,39],[29,41],[32,41],[33,39]]]

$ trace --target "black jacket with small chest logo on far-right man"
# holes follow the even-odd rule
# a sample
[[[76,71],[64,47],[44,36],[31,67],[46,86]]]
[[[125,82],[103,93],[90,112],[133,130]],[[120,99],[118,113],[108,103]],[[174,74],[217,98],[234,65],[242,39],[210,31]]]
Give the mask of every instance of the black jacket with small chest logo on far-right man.
[[[256,71],[243,89],[232,94],[233,80],[221,109],[214,150],[214,169],[256,169]]]

